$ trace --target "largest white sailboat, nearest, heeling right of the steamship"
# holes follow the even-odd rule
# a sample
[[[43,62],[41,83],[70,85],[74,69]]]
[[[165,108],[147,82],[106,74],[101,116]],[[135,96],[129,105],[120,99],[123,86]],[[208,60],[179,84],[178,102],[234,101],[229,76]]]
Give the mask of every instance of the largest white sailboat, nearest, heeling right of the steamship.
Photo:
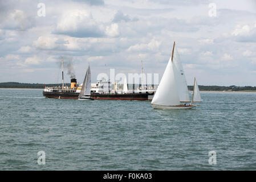
[[[173,44],[172,57],[170,57],[165,68],[164,75],[161,78],[159,87],[156,90],[155,96],[151,102],[154,109],[191,109],[196,105],[183,105],[180,103],[181,98],[185,98],[187,91],[184,89],[184,78],[178,76],[178,73],[183,73],[178,59],[173,62],[175,42]],[[180,69],[178,69],[180,68]],[[182,82],[182,84],[181,84]]]

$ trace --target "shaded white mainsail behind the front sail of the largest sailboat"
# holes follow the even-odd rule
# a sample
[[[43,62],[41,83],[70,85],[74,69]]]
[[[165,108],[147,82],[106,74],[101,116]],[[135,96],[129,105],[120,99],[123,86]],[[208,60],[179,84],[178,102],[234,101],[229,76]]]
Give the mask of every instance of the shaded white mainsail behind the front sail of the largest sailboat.
[[[180,101],[181,102],[190,102],[188,85],[186,83],[186,76],[185,76],[185,72],[182,67],[180,56],[178,55],[176,45],[174,47],[172,61],[173,61],[173,71],[174,71],[174,76],[176,79],[176,84],[177,84],[177,88],[178,88],[178,95],[180,97]]]

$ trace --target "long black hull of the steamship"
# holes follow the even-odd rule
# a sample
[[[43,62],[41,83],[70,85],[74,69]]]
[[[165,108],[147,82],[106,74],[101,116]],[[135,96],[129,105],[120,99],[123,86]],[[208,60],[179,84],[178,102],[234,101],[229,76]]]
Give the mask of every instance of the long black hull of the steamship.
[[[127,94],[98,94],[92,93],[91,98],[95,100],[152,100],[154,93],[127,93]],[[79,93],[76,92],[44,92],[43,96],[47,98],[67,98],[78,99]]]

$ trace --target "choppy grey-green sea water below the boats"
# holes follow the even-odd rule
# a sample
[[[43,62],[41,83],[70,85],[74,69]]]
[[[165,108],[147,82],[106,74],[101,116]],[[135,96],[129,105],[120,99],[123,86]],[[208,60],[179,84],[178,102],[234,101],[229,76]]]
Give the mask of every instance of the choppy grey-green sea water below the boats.
[[[149,101],[44,98],[0,89],[2,170],[256,169],[256,93],[202,92],[192,110]],[[46,164],[38,164],[38,151]],[[216,151],[217,164],[208,162]]]

